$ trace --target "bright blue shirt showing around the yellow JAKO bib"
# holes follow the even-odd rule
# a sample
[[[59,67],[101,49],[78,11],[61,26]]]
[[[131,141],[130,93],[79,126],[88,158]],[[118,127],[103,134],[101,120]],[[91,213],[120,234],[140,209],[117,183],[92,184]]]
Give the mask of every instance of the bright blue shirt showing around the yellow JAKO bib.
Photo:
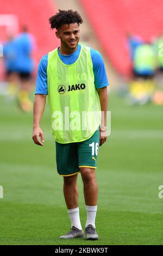
[[[69,55],[62,55],[58,50],[59,57],[61,61],[67,65],[71,65],[76,62],[79,53],[80,53],[81,45],[78,44],[78,48],[75,52]],[[106,75],[106,70],[103,62],[103,58],[101,54],[92,49],[90,50],[91,59],[93,64],[93,73],[95,76],[95,87],[103,88],[105,86],[109,86],[108,78]],[[47,62],[48,62],[48,54],[42,57],[39,63],[39,68],[37,71],[37,80],[36,80],[36,90],[35,94],[48,94],[47,88]]]

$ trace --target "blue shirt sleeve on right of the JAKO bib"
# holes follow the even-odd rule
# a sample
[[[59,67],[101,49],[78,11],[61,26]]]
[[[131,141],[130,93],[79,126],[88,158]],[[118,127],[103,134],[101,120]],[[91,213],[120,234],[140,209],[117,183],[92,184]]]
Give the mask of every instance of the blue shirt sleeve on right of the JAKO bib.
[[[94,49],[91,49],[90,52],[93,63],[93,73],[95,76],[95,87],[103,88],[105,86],[109,86],[108,77],[106,75],[104,61],[101,54]]]

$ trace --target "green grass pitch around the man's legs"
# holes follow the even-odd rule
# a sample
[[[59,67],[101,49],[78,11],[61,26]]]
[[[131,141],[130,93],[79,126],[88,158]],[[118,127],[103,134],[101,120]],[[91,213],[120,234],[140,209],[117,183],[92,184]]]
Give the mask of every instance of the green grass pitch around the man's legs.
[[[70,230],[57,174],[55,147],[49,133],[48,108],[41,128],[44,147],[32,142],[32,114],[0,98],[1,245],[162,245],[163,106],[129,107],[109,96],[111,136],[99,149],[96,170],[99,197],[98,241],[60,240]],[[79,208],[84,228],[86,211],[80,174]]]

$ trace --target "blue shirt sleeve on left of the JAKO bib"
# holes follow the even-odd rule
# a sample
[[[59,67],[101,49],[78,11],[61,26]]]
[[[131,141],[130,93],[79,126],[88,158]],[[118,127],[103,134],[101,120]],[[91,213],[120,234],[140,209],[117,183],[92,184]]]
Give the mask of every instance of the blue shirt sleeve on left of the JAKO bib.
[[[48,54],[42,57],[39,63],[35,94],[48,94],[47,88],[47,60]]]

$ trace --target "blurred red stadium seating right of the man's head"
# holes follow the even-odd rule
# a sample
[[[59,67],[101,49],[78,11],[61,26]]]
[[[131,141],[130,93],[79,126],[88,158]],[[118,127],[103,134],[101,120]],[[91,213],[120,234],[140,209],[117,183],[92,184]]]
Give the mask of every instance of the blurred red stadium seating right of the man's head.
[[[161,0],[80,0],[106,56],[122,75],[130,72],[127,33],[150,40],[162,33]],[[162,7],[162,8],[161,8]]]

